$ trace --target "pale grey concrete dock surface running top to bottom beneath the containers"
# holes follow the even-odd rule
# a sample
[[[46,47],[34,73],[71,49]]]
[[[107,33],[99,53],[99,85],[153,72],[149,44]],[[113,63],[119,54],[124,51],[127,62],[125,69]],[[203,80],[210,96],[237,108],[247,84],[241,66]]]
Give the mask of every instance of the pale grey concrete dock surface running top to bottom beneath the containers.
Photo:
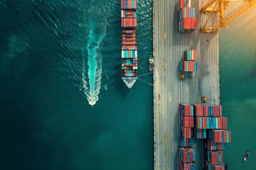
[[[201,33],[207,19],[200,8],[206,0],[192,1],[198,29],[178,33],[178,0],[153,0],[154,40],[154,169],[178,169],[179,103],[220,103],[218,34]],[[210,23],[217,23],[213,18]],[[166,34],[165,34],[166,33]],[[166,36],[166,38],[165,38]],[[178,62],[185,50],[197,50],[198,72],[178,79]],[[202,144],[196,143],[196,169],[201,169]]]

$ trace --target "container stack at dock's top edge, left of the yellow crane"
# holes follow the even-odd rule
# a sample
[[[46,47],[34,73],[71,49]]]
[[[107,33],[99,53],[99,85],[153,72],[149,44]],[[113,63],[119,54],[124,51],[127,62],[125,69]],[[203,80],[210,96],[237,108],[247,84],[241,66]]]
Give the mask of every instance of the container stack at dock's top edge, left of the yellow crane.
[[[178,31],[192,32],[198,28],[196,9],[191,8],[191,0],[179,0],[177,4]]]

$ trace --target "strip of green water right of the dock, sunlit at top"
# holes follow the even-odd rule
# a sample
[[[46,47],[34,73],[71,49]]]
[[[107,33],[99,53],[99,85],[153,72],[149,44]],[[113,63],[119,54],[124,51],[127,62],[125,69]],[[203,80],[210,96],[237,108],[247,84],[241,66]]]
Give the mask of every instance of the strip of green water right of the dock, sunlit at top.
[[[220,31],[220,101],[232,142],[224,152],[228,169],[256,169],[256,7]],[[242,161],[247,149],[251,155]]]

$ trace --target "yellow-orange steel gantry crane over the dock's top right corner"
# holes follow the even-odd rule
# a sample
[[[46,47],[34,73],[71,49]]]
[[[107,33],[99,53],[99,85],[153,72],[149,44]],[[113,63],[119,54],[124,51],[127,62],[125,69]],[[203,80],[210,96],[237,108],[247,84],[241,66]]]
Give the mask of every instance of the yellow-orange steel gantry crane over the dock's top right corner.
[[[228,23],[240,16],[242,13],[250,9],[256,4],[256,0],[210,0],[206,3],[201,11],[208,15],[206,23],[201,28],[202,33],[218,33],[220,28],[225,28]],[[236,7],[235,10],[229,10],[229,8]],[[229,11],[228,11],[229,10]],[[228,11],[228,15],[225,13]],[[219,18],[216,24],[208,26],[208,21],[215,13],[215,16]]]

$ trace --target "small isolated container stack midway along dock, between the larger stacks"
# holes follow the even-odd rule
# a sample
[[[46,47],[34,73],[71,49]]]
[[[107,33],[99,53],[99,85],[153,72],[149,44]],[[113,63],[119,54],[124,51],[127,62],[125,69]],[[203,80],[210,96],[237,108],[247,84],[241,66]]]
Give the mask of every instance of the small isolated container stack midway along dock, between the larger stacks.
[[[184,52],[184,61],[179,62],[180,72],[197,72],[196,50]]]

